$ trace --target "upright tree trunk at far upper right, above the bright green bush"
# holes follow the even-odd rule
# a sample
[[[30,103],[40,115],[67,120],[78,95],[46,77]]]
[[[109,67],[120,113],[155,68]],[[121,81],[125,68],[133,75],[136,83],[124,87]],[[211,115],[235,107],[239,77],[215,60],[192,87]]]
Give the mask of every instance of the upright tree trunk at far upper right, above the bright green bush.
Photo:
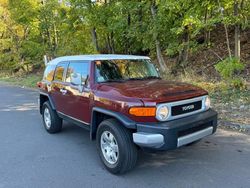
[[[234,0],[234,16],[237,18],[238,15],[239,15],[239,4],[237,0]],[[234,56],[240,60],[240,25],[239,23],[236,23],[235,28],[234,28]]]

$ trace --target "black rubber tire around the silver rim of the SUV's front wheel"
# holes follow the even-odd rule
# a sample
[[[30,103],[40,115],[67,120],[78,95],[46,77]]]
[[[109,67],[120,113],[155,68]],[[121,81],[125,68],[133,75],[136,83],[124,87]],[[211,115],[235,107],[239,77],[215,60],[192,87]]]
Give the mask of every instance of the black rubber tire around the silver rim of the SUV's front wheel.
[[[105,132],[113,134],[117,141],[119,155],[115,164],[110,164],[104,157],[101,149],[101,136]],[[106,169],[112,174],[123,174],[136,165],[137,147],[133,143],[132,133],[115,119],[107,119],[101,122],[97,130],[97,149]]]

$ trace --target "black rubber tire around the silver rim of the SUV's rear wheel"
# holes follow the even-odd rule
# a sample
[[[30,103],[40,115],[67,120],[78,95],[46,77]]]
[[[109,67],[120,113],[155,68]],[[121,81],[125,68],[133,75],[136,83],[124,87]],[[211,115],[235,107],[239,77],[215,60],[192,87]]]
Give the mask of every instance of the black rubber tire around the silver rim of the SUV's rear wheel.
[[[50,114],[50,120],[51,120],[50,126],[47,126],[46,122],[45,122],[46,111],[49,112],[49,114]],[[44,128],[49,133],[53,134],[53,133],[60,132],[62,130],[62,119],[57,115],[56,111],[52,109],[49,101],[46,101],[45,103],[43,103],[42,118],[43,118]]]

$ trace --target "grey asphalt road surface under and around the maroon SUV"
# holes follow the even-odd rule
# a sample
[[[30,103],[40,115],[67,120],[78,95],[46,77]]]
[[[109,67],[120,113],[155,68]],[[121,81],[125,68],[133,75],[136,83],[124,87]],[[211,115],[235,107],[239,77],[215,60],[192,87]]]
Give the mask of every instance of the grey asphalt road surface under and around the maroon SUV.
[[[0,188],[250,187],[250,136],[218,130],[193,146],[140,152],[133,171],[115,176],[84,129],[44,130],[37,96],[0,84]]]

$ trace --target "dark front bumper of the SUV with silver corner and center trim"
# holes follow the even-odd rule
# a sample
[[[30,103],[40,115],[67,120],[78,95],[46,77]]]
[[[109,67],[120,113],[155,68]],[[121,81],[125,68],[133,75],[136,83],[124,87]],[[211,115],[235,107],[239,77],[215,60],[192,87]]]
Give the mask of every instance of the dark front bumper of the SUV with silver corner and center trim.
[[[170,150],[213,134],[217,129],[217,112],[210,109],[168,122],[138,123],[133,141],[142,148]]]

